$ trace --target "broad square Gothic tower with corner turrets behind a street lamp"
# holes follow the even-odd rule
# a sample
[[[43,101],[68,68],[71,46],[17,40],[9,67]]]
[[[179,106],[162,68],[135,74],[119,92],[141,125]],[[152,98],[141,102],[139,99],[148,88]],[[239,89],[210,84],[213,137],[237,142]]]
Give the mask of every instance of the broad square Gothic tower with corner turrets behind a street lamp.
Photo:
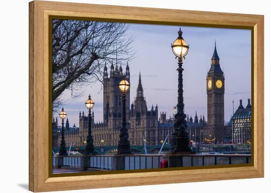
[[[119,82],[126,77],[130,82],[130,69],[127,63],[126,72],[122,67],[114,69],[113,63],[110,67],[110,77],[107,74],[107,67],[103,70],[103,122],[111,128],[120,128],[122,122],[122,93],[119,90]],[[130,90],[126,93],[126,118],[130,119]]]

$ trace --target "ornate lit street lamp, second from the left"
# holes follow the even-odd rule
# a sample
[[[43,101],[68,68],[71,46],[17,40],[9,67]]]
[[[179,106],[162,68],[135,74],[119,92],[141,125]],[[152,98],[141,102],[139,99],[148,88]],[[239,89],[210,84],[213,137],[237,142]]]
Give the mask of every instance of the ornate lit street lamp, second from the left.
[[[93,137],[91,133],[91,109],[94,107],[94,102],[91,99],[90,95],[89,95],[88,100],[85,102],[85,105],[87,109],[89,110],[89,115],[88,115],[89,125],[88,125],[88,136],[87,136],[87,143],[86,143],[87,145],[85,149],[85,154],[94,154]]]

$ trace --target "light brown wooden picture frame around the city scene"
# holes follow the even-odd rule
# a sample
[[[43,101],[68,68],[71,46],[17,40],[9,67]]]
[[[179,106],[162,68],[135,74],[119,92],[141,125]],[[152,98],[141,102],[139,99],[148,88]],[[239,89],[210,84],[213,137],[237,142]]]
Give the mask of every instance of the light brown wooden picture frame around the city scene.
[[[155,185],[264,177],[264,16],[98,4],[29,3],[29,190],[33,192]],[[253,164],[246,167],[184,169],[50,177],[49,17],[245,28],[252,31]],[[225,175],[227,174],[227,175]]]

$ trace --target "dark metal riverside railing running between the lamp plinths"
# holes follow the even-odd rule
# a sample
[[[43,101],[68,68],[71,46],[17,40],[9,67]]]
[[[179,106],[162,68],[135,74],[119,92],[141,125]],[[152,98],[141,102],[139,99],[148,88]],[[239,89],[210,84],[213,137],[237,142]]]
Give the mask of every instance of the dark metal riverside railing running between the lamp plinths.
[[[88,155],[87,167],[113,170],[113,157],[114,155]],[[165,154],[126,155],[125,170],[160,168],[163,157]],[[53,156],[53,166],[56,166],[56,158],[57,156]],[[251,163],[251,154],[184,154],[180,159],[181,167],[248,164]],[[81,156],[64,156],[63,166],[81,167]]]

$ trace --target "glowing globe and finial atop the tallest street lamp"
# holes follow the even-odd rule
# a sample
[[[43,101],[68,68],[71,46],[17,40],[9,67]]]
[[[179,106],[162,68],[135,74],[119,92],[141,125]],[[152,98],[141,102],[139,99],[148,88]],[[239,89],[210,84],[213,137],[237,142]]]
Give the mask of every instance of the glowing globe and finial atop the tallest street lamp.
[[[186,41],[182,37],[182,31],[181,28],[178,32],[178,38],[173,42],[173,45],[171,44],[172,52],[175,56],[178,58],[183,58],[187,55],[189,45],[187,45]]]

